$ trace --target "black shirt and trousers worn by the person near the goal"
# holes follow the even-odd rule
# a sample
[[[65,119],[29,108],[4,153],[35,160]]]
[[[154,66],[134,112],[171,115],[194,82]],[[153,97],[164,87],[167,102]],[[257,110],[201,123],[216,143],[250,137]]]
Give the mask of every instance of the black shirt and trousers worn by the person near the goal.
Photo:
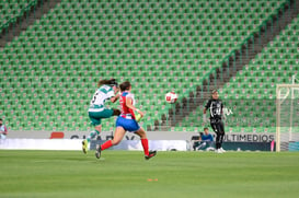
[[[225,125],[222,123],[222,108],[223,104],[221,100],[210,98],[205,106],[206,110],[210,112],[210,126],[216,132],[216,150],[222,145],[225,137]]]

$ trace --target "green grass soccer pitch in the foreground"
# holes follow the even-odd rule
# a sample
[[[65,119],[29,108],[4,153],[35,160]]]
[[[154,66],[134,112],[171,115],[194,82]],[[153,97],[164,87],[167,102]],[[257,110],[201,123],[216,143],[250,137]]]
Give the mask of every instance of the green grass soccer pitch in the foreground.
[[[298,197],[299,152],[0,150],[0,197]]]

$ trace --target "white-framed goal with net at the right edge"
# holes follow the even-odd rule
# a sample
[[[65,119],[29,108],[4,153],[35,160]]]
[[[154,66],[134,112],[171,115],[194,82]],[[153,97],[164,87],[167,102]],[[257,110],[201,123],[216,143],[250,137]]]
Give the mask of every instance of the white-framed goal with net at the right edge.
[[[299,84],[276,85],[276,151],[299,151]]]

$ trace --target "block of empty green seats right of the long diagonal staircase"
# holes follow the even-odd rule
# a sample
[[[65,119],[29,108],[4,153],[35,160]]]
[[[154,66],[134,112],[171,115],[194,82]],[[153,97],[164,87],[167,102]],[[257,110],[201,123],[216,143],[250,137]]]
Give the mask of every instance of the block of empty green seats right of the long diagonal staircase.
[[[227,131],[275,132],[276,84],[292,83],[292,75],[299,74],[298,34],[299,15],[219,90],[226,106],[233,113],[226,120]],[[203,106],[185,117],[179,124],[181,127],[175,129],[200,130],[199,127],[204,126],[202,113]],[[295,120],[294,127],[298,126]]]

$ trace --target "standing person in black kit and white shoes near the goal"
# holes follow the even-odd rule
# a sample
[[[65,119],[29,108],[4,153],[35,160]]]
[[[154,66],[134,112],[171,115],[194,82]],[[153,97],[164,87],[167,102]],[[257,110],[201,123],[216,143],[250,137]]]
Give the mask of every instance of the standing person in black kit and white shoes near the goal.
[[[216,152],[223,153],[226,152],[222,149],[222,141],[225,137],[225,125],[222,123],[223,116],[223,104],[222,101],[219,100],[219,94],[217,90],[211,92],[211,98],[208,101],[204,108],[204,123],[207,123],[207,109],[210,112],[210,126],[212,130],[216,132]]]

